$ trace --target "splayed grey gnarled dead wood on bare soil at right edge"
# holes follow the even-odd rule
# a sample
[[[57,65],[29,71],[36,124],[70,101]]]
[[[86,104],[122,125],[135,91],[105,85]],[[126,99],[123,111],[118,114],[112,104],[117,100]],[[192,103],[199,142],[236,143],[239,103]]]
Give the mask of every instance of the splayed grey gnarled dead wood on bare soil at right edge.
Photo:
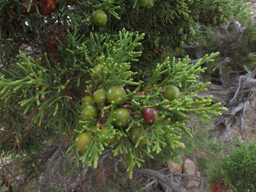
[[[256,68],[250,71],[244,66],[244,70],[247,74],[240,76],[237,84],[229,88],[217,86],[217,89],[216,86],[212,86],[211,90],[201,94],[204,97],[213,95],[214,102],[222,102],[223,106],[228,108],[217,121],[218,124],[223,123],[226,126],[226,136],[229,137],[230,125],[238,118],[237,116],[241,119],[241,131],[244,130],[245,111],[256,94]]]

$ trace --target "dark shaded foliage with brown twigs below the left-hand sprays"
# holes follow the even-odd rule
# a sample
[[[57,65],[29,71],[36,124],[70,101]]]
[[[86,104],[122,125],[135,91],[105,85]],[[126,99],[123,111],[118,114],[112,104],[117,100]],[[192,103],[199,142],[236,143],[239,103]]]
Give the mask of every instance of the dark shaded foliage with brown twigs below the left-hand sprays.
[[[3,102],[1,102],[3,103]],[[23,116],[16,108],[5,108],[0,111],[0,152],[1,156],[15,156],[29,151],[36,152],[44,146],[45,137],[56,138],[55,130],[42,129],[31,122],[35,111]]]

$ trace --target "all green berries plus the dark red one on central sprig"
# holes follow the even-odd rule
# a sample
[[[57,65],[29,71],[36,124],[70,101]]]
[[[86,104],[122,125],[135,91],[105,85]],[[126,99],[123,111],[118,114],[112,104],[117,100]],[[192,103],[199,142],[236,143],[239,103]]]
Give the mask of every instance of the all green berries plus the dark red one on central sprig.
[[[102,76],[101,66],[98,67],[96,65],[93,70],[99,75]],[[99,76],[95,75],[95,78],[99,78]],[[180,97],[180,91],[177,87],[173,85],[167,85],[163,89],[163,96],[165,99],[172,101],[174,99],[178,99]],[[128,111],[125,108],[122,108],[122,104],[126,101],[126,92],[123,87],[121,86],[111,86],[108,88],[108,90],[105,89],[98,89],[93,93],[93,97],[90,95],[85,96],[82,99],[82,116],[84,120],[90,121],[92,119],[98,119],[98,108],[102,105],[109,105],[114,104],[117,106],[117,108],[113,111],[112,118],[115,119],[115,121],[111,122],[111,125],[113,125],[115,128],[124,128],[129,125],[131,122],[131,114],[130,111]],[[113,103],[114,102],[114,103]],[[98,104],[97,107],[95,104]],[[157,118],[159,118],[159,112],[154,108],[145,108],[142,112],[142,118],[145,120],[145,123],[148,125],[153,125],[155,123],[155,114]],[[108,113],[110,113],[108,111]],[[104,126],[104,125],[103,125]],[[96,124],[90,125],[88,127],[91,130],[96,130]],[[108,126],[101,127],[100,129],[100,136],[102,141],[107,143],[108,145],[113,144],[116,141],[116,134],[111,133],[110,128]],[[132,128],[129,131],[129,138],[132,141],[132,143],[136,144],[138,139],[140,138],[141,134],[141,128],[135,127]],[[108,135],[108,136],[106,136]],[[85,153],[90,143],[93,139],[93,133],[80,133],[76,138],[76,148],[81,153]],[[142,139],[139,142],[139,146],[146,144],[146,139]]]

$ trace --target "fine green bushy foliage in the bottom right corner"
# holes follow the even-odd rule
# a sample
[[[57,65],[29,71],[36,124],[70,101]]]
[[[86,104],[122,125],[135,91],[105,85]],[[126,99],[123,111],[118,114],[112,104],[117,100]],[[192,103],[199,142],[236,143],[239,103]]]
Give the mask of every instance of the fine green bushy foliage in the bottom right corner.
[[[211,140],[204,147],[207,181],[237,192],[256,191],[255,142],[246,144],[236,139],[228,146],[227,153],[220,141]]]

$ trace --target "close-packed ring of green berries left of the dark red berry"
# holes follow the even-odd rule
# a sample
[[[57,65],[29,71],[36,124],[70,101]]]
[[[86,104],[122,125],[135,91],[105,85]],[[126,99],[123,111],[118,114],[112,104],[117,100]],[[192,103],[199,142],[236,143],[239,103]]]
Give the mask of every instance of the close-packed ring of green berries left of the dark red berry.
[[[98,71],[99,72],[99,71]],[[107,102],[116,101],[116,105],[122,105],[126,100],[126,92],[123,87],[120,86],[112,86],[109,87],[108,90],[98,89],[93,93],[93,98],[90,95],[85,96],[82,99],[82,116],[84,120],[89,121],[92,119],[98,118],[98,108],[95,106],[95,103],[98,105],[107,104]],[[127,109],[124,108],[117,108],[114,110],[113,118],[116,121],[113,122],[115,127],[125,127],[129,124],[131,120],[131,115]],[[91,130],[96,129],[96,125],[90,125],[88,127]],[[109,127],[105,126],[100,129],[100,136],[104,142],[108,145],[111,145],[116,141],[116,135],[108,136],[105,138],[107,132],[109,131]],[[90,143],[93,139],[93,135],[89,133],[80,133],[76,138],[76,148],[81,153],[85,153],[90,146]]]

